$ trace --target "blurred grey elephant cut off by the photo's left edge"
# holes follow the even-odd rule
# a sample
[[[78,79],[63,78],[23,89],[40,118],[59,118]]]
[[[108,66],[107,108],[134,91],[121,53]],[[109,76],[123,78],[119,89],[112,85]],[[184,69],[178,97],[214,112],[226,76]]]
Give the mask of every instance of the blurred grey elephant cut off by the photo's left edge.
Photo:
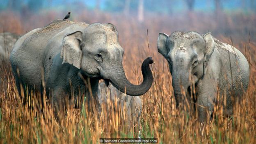
[[[20,38],[18,34],[10,32],[0,33],[0,59],[9,60],[14,43]]]

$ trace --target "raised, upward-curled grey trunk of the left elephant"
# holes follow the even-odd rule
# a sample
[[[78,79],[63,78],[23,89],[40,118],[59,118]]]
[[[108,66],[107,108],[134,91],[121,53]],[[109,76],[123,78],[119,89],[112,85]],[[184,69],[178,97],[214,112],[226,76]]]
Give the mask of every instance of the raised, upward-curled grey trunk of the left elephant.
[[[123,66],[117,66],[113,70],[113,74],[110,78],[110,82],[114,87],[117,87],[121,92],[126,93],[130,96],[140,96],[145,94],[153,83],[153,75],[149,68],[149,64],[153,63],[153,59],[148,57],[142,63],[142,75],[143,82],[140,85],[131,84],[124,73]]]

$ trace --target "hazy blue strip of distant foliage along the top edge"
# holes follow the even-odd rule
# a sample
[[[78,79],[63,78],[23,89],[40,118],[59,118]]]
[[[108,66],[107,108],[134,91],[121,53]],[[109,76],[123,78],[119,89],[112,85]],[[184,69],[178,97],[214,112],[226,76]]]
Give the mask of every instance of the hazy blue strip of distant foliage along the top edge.
[[[144,11],[173,14],[183,11],[242,11],[256,12],[256,0],[144,0]],[[95,9],[114,13],[137,14],[139,0],[0,0],[0,11],[11,9],[37,12],[41,9]],[[81,10],[81,9],[80,9]]]

